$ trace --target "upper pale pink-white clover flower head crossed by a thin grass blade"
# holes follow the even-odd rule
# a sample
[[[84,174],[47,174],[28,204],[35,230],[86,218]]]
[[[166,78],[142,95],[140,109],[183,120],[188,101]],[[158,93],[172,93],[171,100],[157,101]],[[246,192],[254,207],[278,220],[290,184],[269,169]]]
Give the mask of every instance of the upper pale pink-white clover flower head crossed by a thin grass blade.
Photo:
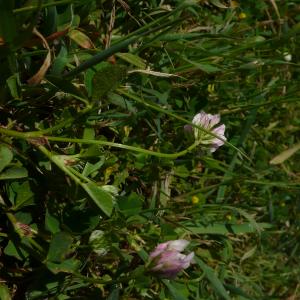
[[[201,111],[193,118],[193,124],[203,127],[204,129],[212,132],[222,140],[217,137],[214,137],[198,128],[193,128],[194,136],[200,144],[206,145],[209,147],[210,152],[215,152],[220,146],[224,145],[224,141],[226,141],[226,137],[224,136],[225,133],[225,125],[220,123],[220,116],[219,115],[211,115],[207,114],[204,111]]]

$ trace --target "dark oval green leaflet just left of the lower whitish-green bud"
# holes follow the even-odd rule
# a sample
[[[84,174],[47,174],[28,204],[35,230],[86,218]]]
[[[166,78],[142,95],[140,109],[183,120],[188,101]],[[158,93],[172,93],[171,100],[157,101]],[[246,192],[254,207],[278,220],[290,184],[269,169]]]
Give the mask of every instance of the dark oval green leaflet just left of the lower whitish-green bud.
[[[61,263],[70,253],[73,238],[67,232],[60,231],[56,233],[50,243],[47,261]]]

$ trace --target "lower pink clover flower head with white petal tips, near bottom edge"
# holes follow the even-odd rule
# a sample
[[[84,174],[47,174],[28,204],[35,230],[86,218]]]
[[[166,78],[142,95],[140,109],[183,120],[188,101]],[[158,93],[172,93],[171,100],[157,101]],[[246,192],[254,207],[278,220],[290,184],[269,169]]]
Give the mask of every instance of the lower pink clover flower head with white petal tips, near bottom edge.
[[[186,240],[174,240],[159,244],[150,253],[150,271],[161,278],[174,279],[177,274],[188,268],[193,260],[194,252],[182,254],[187,245]]]

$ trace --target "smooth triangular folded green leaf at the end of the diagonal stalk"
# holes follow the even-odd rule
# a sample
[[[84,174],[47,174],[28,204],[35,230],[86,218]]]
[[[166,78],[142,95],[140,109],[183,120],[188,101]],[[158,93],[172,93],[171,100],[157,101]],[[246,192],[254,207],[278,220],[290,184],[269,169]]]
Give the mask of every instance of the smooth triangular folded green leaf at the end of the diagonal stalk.
[[[113,210],[113,197],[93,182],[81,185],[95,204],[109,217]]]

